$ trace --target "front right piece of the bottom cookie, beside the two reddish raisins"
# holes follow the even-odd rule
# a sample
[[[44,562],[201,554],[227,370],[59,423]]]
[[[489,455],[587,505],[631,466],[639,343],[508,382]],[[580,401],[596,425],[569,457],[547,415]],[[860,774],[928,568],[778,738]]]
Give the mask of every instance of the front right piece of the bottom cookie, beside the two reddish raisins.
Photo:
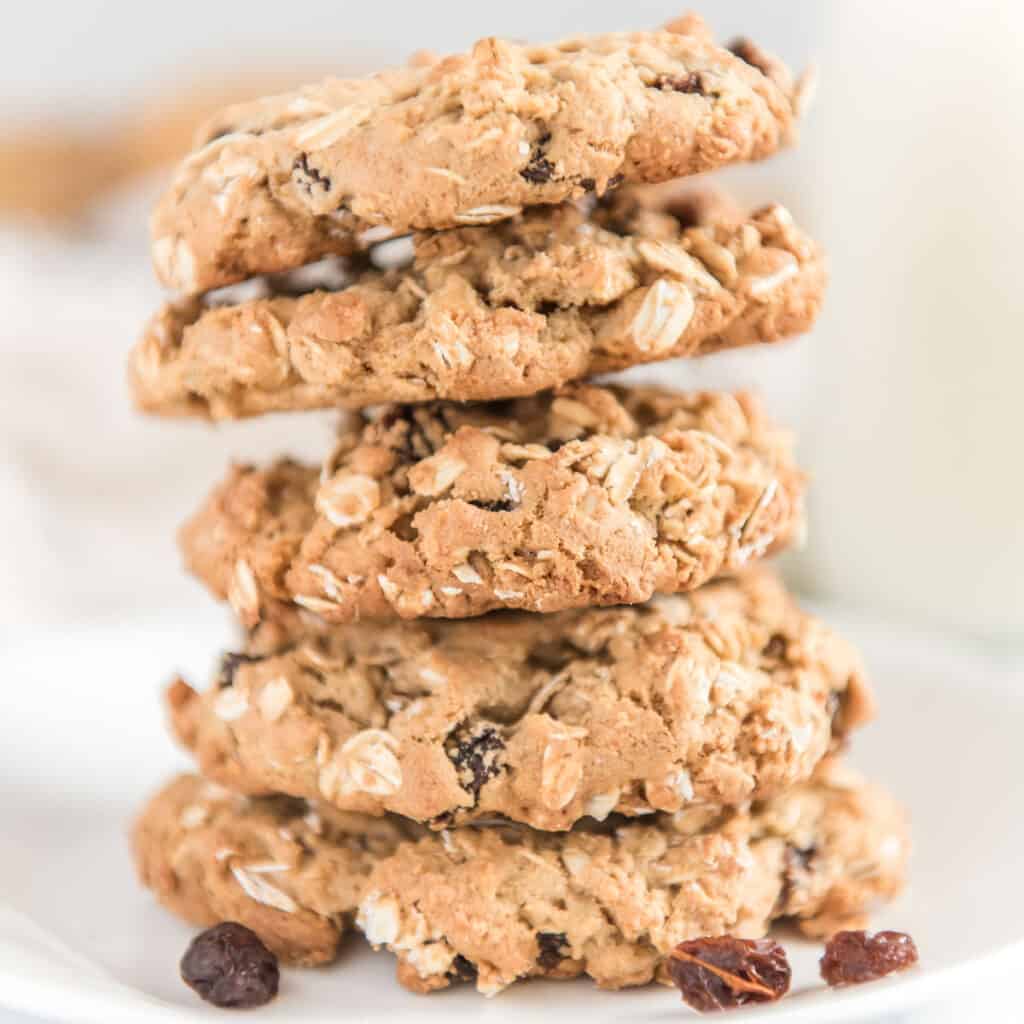
[[[900,889],[901,809],[841,765],[750,812],[681,812],[606,835],[458,828],[381,861],[356,923],[419,992],[475,981],[589,975],[603,988],[666,981],[665,955],[706,935],[863,927]]]

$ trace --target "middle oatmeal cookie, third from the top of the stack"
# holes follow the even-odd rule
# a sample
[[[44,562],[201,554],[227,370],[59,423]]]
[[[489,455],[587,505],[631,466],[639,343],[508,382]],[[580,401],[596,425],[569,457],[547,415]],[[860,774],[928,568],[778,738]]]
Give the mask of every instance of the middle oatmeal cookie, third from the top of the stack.
[[[356,419],[323,470],[236,467],[180,540],[248,626],[551,612],[739,569],[799,535],[803,489],[750,395],[577,386]]]

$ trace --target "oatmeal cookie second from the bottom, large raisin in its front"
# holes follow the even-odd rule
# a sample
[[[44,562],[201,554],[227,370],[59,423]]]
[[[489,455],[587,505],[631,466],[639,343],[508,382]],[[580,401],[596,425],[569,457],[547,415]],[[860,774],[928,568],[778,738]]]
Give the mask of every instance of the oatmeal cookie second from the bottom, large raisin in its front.
[[[872,712],[854,651],[765,572],[638,607],[275,646],[225,655],[202,696],[172,686],[203,773],[435,827],[736,806],[806,781]]]

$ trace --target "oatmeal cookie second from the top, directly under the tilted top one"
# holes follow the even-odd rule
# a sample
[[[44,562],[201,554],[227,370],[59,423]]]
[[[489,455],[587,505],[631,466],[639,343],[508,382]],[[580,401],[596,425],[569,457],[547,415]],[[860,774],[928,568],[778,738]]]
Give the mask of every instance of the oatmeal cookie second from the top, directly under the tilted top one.
[[[418,234],[406,266],[337,290],[167,303],[129,359],[139,409],[279,410],[532,394],[807,331],[821,253],[786,210],[743,216],[678,186],[621,189],[498,224]]]

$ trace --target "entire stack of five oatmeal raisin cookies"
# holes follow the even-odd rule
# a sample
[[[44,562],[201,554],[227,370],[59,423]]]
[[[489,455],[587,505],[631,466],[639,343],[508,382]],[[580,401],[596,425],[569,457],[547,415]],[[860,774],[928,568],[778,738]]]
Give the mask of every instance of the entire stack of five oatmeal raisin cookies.
[[[792,438],[751,395],[581,382],[810,327],[790,214],[673,180],[776,151],[804,92],[688,16],[203,129],[138,404],[349,412],[322,466],[236,466],[182,529],[245,638],[168,694],[201,773],[135,833],[168,907],[298,964],[354,925],[408,987],[490,994],[660,980],[682,940],[898,889],[902,814],[836,757],[857,655],[758,564],[803,528]]]

